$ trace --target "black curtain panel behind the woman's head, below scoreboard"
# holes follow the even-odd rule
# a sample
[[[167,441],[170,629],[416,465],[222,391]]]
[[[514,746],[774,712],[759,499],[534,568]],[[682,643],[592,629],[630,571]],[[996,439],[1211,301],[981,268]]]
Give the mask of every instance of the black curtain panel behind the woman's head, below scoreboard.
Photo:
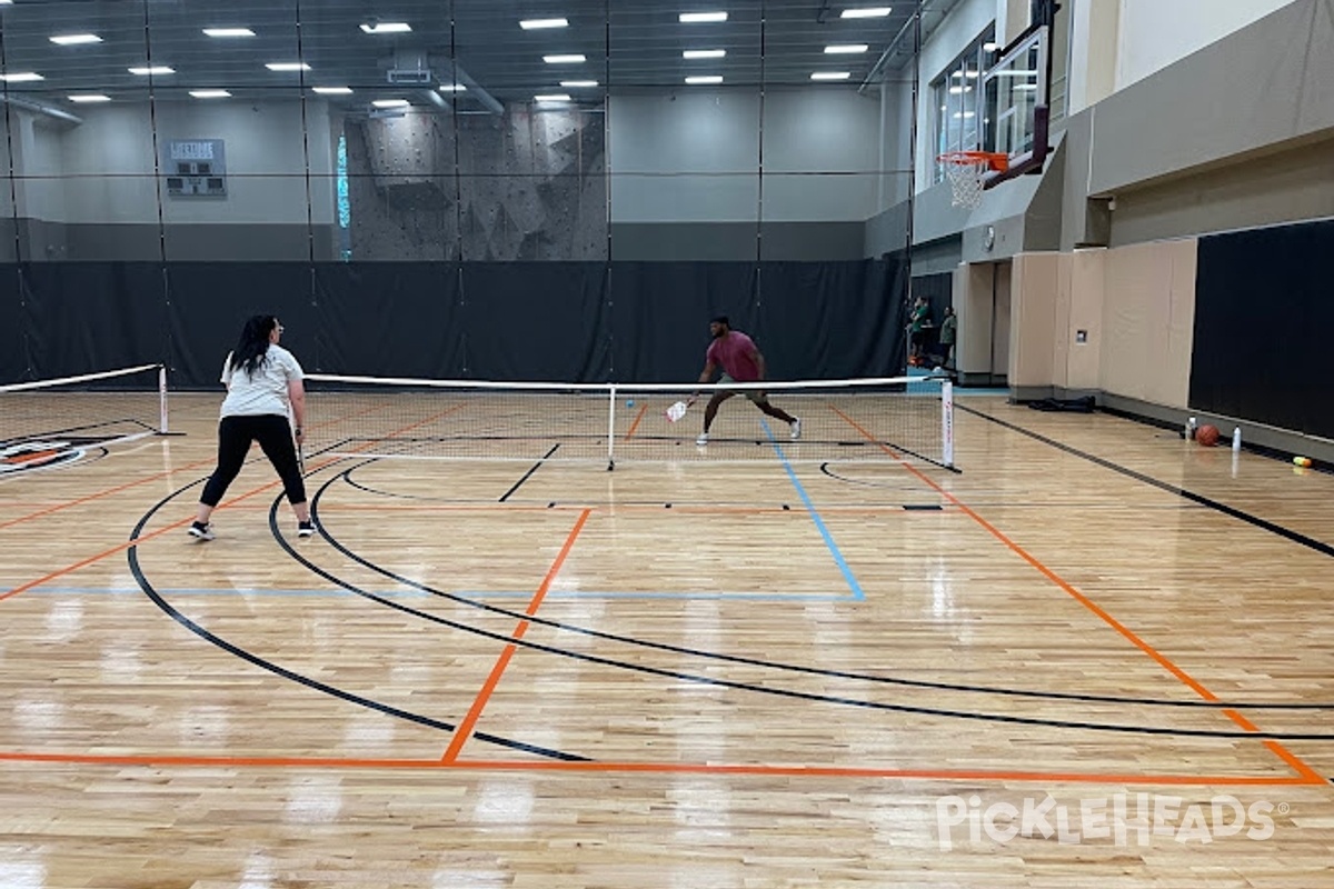
[[[315,363],[319,316],[308,263],[168,263],[171,385],[217,388],[245,319],[276,315],[283,347]]]

